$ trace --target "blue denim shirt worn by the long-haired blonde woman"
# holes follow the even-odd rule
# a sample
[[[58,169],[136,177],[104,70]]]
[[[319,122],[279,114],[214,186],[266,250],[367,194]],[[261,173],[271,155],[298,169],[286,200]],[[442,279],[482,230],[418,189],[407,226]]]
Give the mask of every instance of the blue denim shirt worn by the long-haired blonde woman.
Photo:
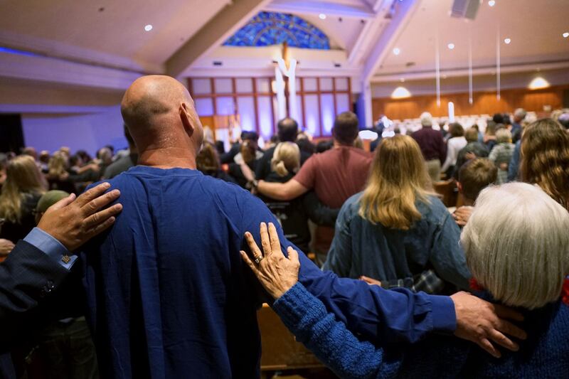
[[[393,281],[432,267],[446,282],[468,289],[471,274],[459,246],[460,229],[438,198],[429,196],[430,204],[417,201],[421,219],[409,230],[396,230],[361,218],[361,195],[342,205],[323,269],[340,277]]]

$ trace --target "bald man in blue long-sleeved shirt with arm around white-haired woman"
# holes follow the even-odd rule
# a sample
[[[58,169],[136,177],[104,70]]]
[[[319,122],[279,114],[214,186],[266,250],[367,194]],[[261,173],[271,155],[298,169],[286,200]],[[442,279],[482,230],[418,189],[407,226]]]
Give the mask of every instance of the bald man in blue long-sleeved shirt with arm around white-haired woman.
[[[124,210],[84,256],[102,378],[258,377],[263,299],[239,250],[248,249],[246,231],[259,242],[260,223],[278,225],[275,218],[247,191],[196,170],[203,129],[181,83],[139,78],[121,111],[139,166],[110,180]],[[489,343],[492,333],[502,336],[497,326],[513,328],[467,294],[385,291],[300,260],[302,284],[363,338],[417,341],[456,330]],[[507,345],[504,338],[496,339]]]

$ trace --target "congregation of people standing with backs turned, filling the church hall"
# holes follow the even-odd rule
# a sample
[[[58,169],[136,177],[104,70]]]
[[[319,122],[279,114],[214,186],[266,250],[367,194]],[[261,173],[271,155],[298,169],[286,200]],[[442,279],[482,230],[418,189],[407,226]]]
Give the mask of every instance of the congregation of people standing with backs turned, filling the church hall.
[[[287,118],[265,149],[243,132],[225,151],[166,77],[135,81],[121,110],[129,148],[117,154],[27,147],[1,157],[3,257],[50,205],[92,183],[110,180],[124,207],[80,258],[63,255],[83,267],[18,338],[17,373],[255,377],[255,306],[276,300],[341,378],[569,375],[559,337],[569,331],[568,110],[534,122],[521,109],[496,114],[484,134],[434,128],[425,112],[413,134],[380,133],[375,151],[363,149],[352,112],[336,117],[330,140]],[[442,202],[440,181],[456,183],[458,204]],[[430,331],[493,356],[490,341],[521,351],[496,360]]]

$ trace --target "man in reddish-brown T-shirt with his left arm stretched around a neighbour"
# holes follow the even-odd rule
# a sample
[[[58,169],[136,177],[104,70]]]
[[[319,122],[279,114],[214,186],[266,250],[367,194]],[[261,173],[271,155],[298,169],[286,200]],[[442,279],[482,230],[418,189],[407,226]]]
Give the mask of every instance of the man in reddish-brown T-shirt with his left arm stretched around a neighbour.
[[[353,147],[358,137],[358,117],[343,112],[334,120],[334,147],[314,154],[287,183],[259,181],[257,191],[277,200],[292,200],[314,188],[322,203],[340,208],[350,196],[363,190],[373,154]],[[315,236],[316,252],[326,254],[334,237],[334,229],[320,226]]]

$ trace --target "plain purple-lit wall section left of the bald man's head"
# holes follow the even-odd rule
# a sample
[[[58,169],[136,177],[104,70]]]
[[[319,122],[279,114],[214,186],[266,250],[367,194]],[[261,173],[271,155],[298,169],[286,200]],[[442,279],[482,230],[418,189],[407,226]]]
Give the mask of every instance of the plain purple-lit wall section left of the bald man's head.
[[[122,149],[128,146],[122,125],[119,105],[108,107],[105,112],[80,116],[22,114],[24,142],[38,151],[53,152],[60,146],[69,146],[72,152],[83,149],[95,155],[106,144]]]

